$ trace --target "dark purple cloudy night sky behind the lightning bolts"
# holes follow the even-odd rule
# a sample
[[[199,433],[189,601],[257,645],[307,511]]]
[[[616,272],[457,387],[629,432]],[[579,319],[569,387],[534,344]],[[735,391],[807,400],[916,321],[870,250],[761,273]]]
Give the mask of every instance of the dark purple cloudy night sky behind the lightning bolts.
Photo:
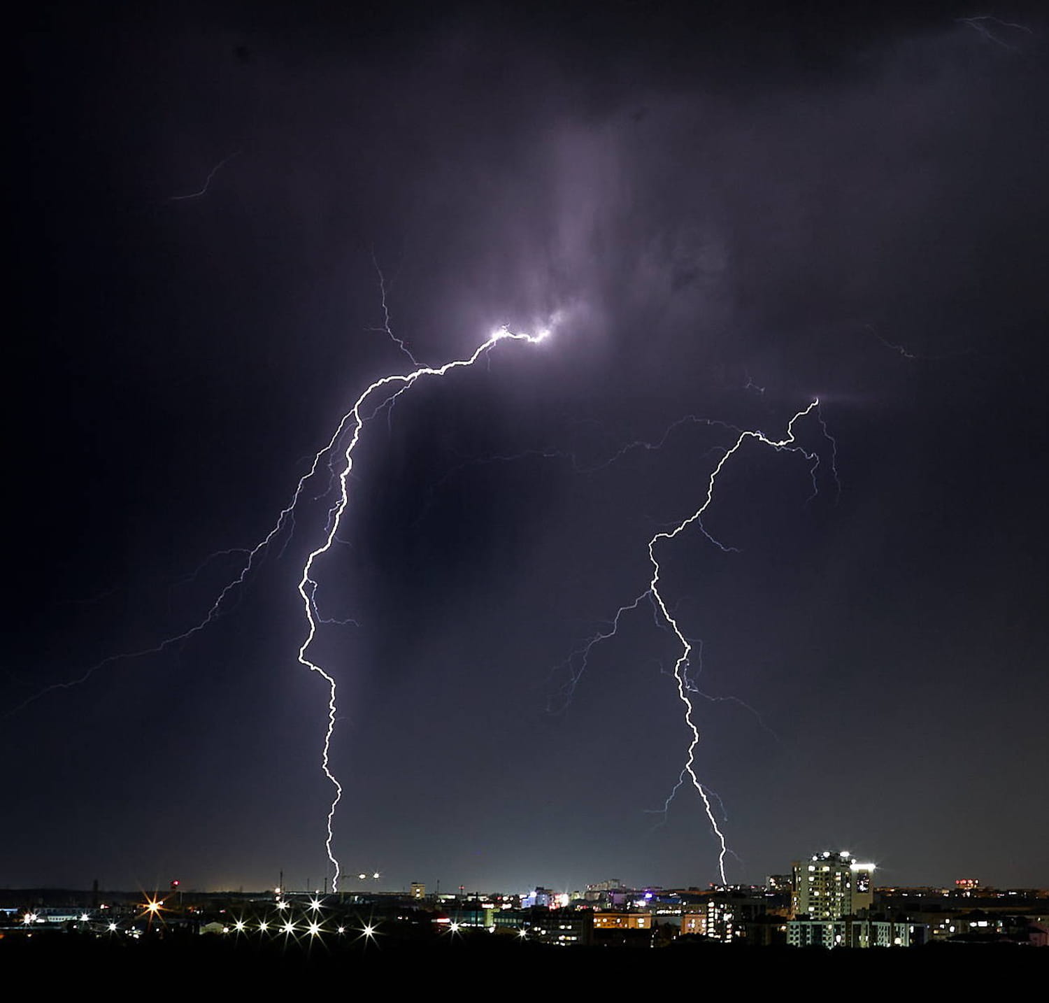
[[[346,872],[716,878],[694,792],[654,813],[673,639],[624,616],[568,702],[564,662],[734,433],[602,464],[685,415],[778,438],[819,396],[840,491],[799,424],[818,496],[745,447],[705,518],[738,553],[659,552],[699,686],[755,711],[698,698],[729,876],[844,847],[886,883],[1049,883],[1044,18],[89,6],[20,36],[0,885],[321,883],[295,588],[326,476],[206,631],[19,708],[198,622],[241,555],[208,556],[410,368],[372,254],[426,363],[561,320],[365,426],[317,573],[360,625],[312,648]]]

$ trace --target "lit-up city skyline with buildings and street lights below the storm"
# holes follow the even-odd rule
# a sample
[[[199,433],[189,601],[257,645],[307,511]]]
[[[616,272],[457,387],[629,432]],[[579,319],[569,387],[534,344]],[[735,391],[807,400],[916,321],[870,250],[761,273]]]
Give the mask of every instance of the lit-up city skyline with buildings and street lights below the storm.
[[[635,889],[612,879],[570,894],[543,887],[527,894],[437,894],[412,883],[410,891],[324,895],[284,888],[195,893],[173,881],[166,894],[128,894],[95,883],[90,892],[4,891],[0,933],[23,945],[44,933],[51,946],[70,952],[169,938],[186,947],[198,935],[229,938],[233,948],[316,942],[352,949],[382,942],[415,953],[464,937],[481,949],[500,939],[504,947],[680,943],[923,953],[934,944],[985,951],[1049,943],[1049,890],[996,890],[973,879],[950,890],[875,889],[872,874],[869,862],[847,851],[823,851],[762,885],[705,890]]]

